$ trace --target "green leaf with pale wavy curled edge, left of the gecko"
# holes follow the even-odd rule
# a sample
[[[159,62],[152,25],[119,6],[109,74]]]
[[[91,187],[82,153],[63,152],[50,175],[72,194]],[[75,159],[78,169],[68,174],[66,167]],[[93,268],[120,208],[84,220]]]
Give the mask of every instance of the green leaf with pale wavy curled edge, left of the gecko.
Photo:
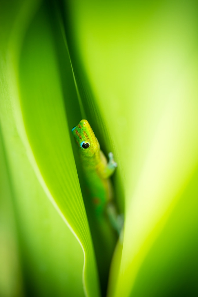
[[[46,7],[34,17],[38,7],[15,1],[1,10],[0,118],[26,293],[99,296],[53,34]]]

